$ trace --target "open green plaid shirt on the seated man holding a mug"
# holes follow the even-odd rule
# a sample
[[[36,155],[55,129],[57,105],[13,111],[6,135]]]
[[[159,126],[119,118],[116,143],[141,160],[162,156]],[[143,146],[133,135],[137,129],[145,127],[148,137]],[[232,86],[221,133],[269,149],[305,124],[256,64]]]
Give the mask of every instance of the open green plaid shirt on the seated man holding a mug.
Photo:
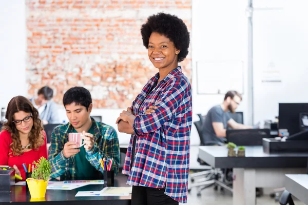
[[[91,119],[94,124],[94,146],[90,151],[86,151],[86,159],[95,169],[104,173],[99,159],[105,157],[109,164],[109,160],[113,158],[112,169],[114,174],[117,174],[120,164],[120,146],[117,132],[111,126]],[[50,177],[52,178],[62,175],[64,178],[69,178],[68,175],[72,178],[75,177],[75,156],[66,158],[63,155],[64,144],[68,142],[68,133],[72,130],[73,127],[68,122],[66,125],[55,127],[51,134],[48,160],[51,163]]]

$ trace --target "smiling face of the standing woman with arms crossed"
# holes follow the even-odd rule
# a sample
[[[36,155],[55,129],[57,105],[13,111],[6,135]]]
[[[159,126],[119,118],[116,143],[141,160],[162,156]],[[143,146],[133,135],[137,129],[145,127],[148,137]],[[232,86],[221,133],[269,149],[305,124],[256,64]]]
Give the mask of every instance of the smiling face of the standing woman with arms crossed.
[[[149,38],[148,56],[152,64],[158,69],[175,69],[178,67],[180,50],[166,36],[152,32]]]

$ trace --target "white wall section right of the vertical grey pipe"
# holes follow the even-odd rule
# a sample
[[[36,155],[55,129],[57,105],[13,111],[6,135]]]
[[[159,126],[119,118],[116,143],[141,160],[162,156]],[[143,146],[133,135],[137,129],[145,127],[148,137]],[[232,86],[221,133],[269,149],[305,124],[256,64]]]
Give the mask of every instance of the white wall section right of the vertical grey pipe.
[[[308,103],[308,2],[253,5],[254,118],[260,121],[278,116],[278,103]]]

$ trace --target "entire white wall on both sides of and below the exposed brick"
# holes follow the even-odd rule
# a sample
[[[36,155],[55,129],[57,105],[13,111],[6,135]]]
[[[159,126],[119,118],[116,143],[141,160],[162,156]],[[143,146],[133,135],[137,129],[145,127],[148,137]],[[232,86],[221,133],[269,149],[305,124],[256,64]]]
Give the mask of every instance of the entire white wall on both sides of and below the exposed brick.
[[[279,4],[279,5],[278,5]],[[278,101],[307,102],[308,19],[305,0],[255,0],[254,24],[254,121],[274,118]],[[284,8],[283,11],[262,8]],[[261,8],[261,10],[258,8]],[[26,94],[26,20],[25,5],[20,1],[5,1],[0,12],[0,106],[6,107],[11,97]],[[223,95],[198,95],[196,90],[196,62],[202,60],[242,60],[245,68],[244,95],[238,111],[244,112],[247,122],[247,17],[243,0],[192,0],[192,94],[193,120],[197,113],[220,104]],[[274,62],[282,83],[261,83],[262,69]],[[273,64],[271,64],[273,65]],[[12,76],[12,77],[11,77]],[[127,105],[129,106],[129,105]],[[67,120],[62,106],[61,118]],[[123,108],[125,109],[125,108]],[[103,121],[116,128],[114,122],[122,110],[94,109]],[[129,135],[119,133],[120,143],[128,144]],[[199,137],[192,126],[191,144],[198,145]]]

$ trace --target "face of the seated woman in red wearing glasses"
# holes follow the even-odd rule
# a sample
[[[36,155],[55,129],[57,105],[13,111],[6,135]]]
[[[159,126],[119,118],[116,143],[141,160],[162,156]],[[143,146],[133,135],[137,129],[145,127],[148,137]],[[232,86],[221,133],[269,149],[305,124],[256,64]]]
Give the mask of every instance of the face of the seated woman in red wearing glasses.
[[[18,132],[22,134],[29,134],[33,127],[33,119],[31,113],[18,111],[14,113],[14,123]],[[23,120],[23,121],[21,121]]]

